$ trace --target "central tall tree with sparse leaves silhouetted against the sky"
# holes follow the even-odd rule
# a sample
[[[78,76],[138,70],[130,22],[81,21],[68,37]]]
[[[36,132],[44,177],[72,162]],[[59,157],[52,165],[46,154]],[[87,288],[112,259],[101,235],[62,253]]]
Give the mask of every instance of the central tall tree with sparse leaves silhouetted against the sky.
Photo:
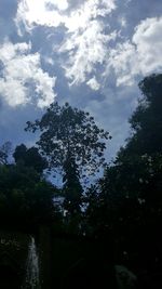
[[[89,113],[56,102],[40,120],[28,121],[26,130],[41,132],[37,144],[50,168],[64,171],[66,206],[70,203],[69,210],[76,210],[82,192],[79,178],[94,173],[105,163],[105,140],[110,139],[109,133],[99,129]]]

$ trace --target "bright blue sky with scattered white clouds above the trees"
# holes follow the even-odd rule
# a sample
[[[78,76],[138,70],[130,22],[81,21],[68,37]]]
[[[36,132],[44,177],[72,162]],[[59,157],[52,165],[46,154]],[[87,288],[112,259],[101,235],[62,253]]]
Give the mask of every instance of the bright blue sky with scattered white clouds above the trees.
[[[0,144],[25,142],[27,120],[54,100],[129,135],[138,82],[162,71],[161,0],[0,0]]]

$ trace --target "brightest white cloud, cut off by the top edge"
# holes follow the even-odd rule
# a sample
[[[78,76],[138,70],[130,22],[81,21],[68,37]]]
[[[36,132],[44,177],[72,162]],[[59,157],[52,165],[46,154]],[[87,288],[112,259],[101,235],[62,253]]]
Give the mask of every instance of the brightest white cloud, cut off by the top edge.
[[[15,22],[26,29],[37,25],[57,27],[62,23],[71,31],[83,28],[97,16],[106,16],[116,9],[116,0],[86,0],[76,10],[67,11],[67,0],[21,0]]]

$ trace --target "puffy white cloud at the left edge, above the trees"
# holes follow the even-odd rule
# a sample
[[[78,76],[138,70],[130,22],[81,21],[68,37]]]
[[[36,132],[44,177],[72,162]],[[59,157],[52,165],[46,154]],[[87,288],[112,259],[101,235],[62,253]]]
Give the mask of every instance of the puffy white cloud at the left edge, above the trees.
[[[0,95],[13,107],[33,101],[39,107],[44,107],[55,97],[55,77],[42,70],[39,53],[30,54],[30,44],[13,44],[8,40],[0,45],[3,64]]]

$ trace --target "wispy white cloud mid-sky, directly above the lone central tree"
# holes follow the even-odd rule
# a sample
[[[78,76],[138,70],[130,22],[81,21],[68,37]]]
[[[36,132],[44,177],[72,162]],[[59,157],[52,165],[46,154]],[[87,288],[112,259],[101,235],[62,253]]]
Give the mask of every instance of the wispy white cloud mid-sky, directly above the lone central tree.
[[[106,36],[103,29],[100,23],[93,21],[82,34],[75,34],[62,45],[60,52],[69,52],[69,60],[64,68],[71,84],[84,82],[89,74],[95,73],[95,65],[103,64],[107,43],[116,38],[116,32]]]

